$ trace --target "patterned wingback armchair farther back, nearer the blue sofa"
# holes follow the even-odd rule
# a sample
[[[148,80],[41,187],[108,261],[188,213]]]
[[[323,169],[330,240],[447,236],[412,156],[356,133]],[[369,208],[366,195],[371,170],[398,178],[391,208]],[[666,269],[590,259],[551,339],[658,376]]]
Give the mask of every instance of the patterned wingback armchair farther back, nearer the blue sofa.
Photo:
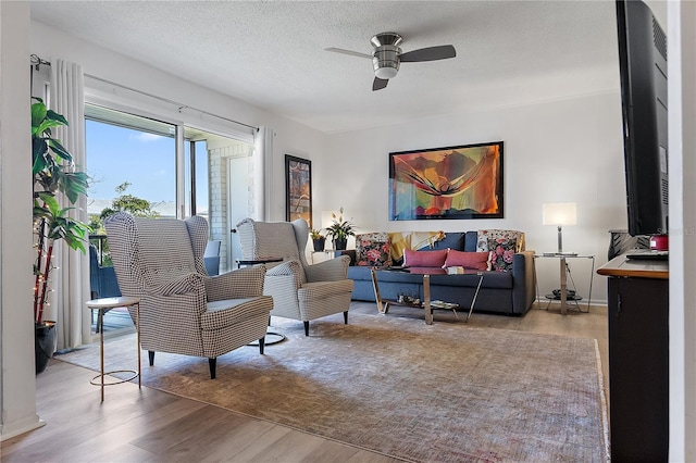
[[[304,249],[309,227],[303,220],[295,222],[256,222],[245,218],[237,224],[244,260],[283,258],[285,262],[269,266],[263,293],[273,297],[271,315],[299,320],[309,336],[309,322],[348,309],[352,279],[348,279],[350,258],[341,255],[314,265],[307,263]],[[270,264],[271,265],[271,264]]]

